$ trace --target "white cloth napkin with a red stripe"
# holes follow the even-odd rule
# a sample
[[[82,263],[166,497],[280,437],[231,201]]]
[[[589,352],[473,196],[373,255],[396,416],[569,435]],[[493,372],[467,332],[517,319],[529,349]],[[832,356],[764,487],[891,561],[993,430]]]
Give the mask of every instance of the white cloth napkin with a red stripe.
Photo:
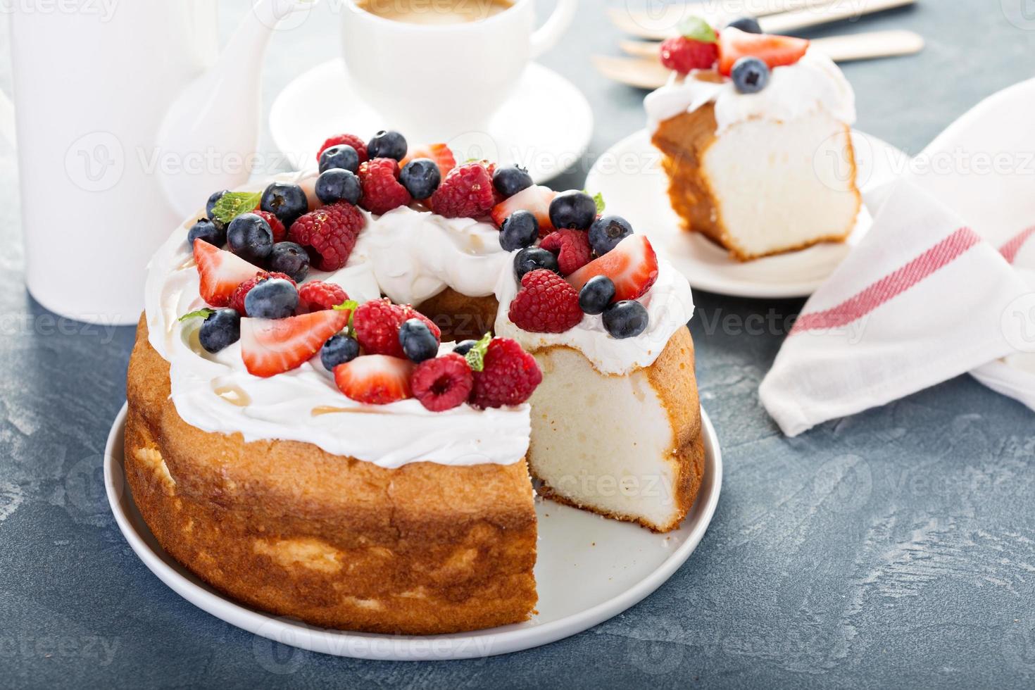
[[[759,389],[788,436],[960,373],[1035,409],[1035,80],[867,191],[874,226]]]

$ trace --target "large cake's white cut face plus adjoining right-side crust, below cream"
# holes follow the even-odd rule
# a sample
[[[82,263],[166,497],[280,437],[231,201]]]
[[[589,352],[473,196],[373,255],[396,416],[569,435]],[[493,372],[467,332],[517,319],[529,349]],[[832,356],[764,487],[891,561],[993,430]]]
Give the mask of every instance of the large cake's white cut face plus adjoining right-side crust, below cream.
[[[570,348],[535,359],[543,382],[531,400],[528,461],[538,492],[655,532],[677,528],[704,476],[690,332],[627,376],[600,373]]]

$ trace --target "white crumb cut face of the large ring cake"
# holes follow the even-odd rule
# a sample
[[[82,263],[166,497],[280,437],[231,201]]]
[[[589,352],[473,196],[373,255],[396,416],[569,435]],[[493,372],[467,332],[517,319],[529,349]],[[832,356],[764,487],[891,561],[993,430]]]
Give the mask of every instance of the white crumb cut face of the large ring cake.
[[[603,376],[580,353],[535,356],[533,475],[572,503],[659,529],[676,517],[675,446],[668,414],[644,370]]]

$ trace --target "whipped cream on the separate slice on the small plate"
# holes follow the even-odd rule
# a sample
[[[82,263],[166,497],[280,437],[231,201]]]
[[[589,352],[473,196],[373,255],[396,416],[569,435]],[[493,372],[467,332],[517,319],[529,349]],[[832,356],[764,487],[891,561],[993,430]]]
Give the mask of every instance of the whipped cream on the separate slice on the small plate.
[[[650,131],[664,120],[707,103],[715,104],[716,133],[747,120],[790,122],[820,110],[845,124],[855,123],[852,86],[833,60],[815,49],[793,65],[774,68],[768,86],[759,93],[740,93],[733,80],[716,82],[714,76],[698,70],[685,77],[673,72],[667,85],[647,94],[644,107]]]

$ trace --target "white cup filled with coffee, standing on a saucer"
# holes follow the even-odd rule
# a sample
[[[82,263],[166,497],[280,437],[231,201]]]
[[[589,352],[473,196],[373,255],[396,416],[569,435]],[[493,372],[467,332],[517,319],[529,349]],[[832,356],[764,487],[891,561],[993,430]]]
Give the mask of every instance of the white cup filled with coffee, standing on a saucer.
[[[404,2],[406,0],[403,0]],[[487,0],[411,0],[442,11]],[[578,0],[558,0],[535,29],[534,0],[473,22],[415,24],[362,7],[400,0],[345,0],[342,48],[354,91],[412,142],[443,142],[484,131],[529,60],[553,48],[574,19]],[[529,108],[538,107],[529,103]]]

